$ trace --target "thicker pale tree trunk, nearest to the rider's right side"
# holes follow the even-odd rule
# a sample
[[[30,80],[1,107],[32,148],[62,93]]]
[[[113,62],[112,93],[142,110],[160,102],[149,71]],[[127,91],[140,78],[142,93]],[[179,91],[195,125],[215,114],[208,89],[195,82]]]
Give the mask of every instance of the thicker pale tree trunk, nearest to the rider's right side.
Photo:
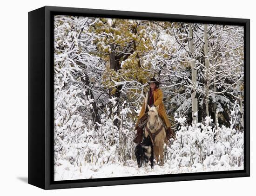
[[[193,30],[192,30],[192,26],[191,24],[189,24],[189,50],[191,51],[191,54],[194,56],[195,52],[194,52],[194,40],[193,40]],[[197,123],[197,98],[195,97],[196,95],[196,87],[197,87],[197,70],[194,69],[195,68],[195,59],[194,57],[190,57],[190,66],[191,66],[191,70],[192,70],[192,83],[193,83],[193,88],[194,91],[191,95],[192,97],[192,124]]]

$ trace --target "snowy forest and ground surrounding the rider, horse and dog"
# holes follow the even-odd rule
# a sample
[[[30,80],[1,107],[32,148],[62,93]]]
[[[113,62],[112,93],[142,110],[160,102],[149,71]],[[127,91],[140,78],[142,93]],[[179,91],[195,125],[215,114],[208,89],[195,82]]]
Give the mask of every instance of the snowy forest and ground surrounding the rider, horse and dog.
[[[243,170],[243,26],[54,16],[54,180]],[[135,123],[161,82],[176,139],[138,168]]]

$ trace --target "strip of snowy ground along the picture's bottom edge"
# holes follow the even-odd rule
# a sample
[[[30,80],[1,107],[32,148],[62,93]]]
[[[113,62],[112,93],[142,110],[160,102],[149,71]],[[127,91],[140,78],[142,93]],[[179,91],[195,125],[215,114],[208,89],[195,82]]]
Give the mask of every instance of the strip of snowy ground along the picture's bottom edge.
[[[230,167],[223,164],[221,161],[212,167],[205,167],[201,164],[192,167],[177,168],[172,164],[164,164],[164,166],[154,165],[151,169],[150,165],[143,165],[138,168],[135,161],[129,160],[126,166],[122,163],[116,164],[83,164],[80,167],[74,167],[71,164],[63,164],[55,168],[54,180],[75,180],[88,178],[105,178],[105,177],[132,177],[132,176],[148,176],[160,174],[175,174],[175,173],[192,173],[192,172],[207,172],[207,171],[229,171],[243,170],[243,166]]]

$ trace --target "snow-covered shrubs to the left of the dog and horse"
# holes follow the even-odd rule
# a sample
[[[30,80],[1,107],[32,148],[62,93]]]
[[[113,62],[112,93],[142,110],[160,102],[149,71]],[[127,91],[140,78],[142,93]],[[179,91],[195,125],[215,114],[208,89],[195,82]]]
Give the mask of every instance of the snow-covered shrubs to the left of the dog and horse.
[[[63,110],[63,107],[70,107],[69,104],[72,101],[67,98],[58,99],[58,101],[63,105],[62,112],[58,110],[60,107],[55,109],[55,165],[60,165],[63,160],[67,160],[73,166],[86,163],[101,165],[116,161],[126,164],[126,160],[132,158],[134,154],[133,132],[131,131],[133,122],[127,118],[127,114],[131,111],[129,107],[126,107],[125,102],[122,104],[119,117],[115,114],[117,108],[115,98],[110,99],[112,109],[106,105],[106,112],[101,114],[101,124],[98,123],[96,129],[91,121],[84,123],[80,115],[68,109],[67,112]],[[83,102],[83,100],[80,101]],[[83,102],[85,110],[89,110],[91,106],[89,101]],[[119,128],[114,125],[115,119],[119,121]]]

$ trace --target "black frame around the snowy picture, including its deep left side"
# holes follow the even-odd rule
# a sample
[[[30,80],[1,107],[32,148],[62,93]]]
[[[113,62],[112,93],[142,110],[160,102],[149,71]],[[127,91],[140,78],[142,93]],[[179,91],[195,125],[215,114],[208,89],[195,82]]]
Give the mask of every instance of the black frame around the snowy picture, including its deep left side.
[[[53,16],[79,15],[122,19],[147,19],[244,26],[244,170],[171,175],[110,177],[54,181],[53,165]],[[228,177],[249,177],[249,64],[250,20],[163,13],[44,6],[28,13],[28,183],[45,190],[157,183]]]

